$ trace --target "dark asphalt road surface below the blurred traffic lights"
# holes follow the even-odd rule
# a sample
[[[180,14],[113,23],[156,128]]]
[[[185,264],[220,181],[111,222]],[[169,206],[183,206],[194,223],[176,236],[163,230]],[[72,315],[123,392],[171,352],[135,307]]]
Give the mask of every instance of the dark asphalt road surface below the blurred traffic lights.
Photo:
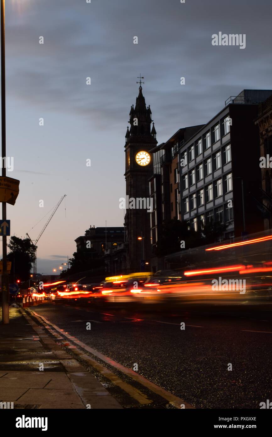
[[[217,305],[212,300],[137,309],[78,300],[31,308],[111,360],[132,370],[137,364],[138,374],[149,381],[209,409],[259,409],[260,402],[272,400],[271,309],[269,302]],[[114,365],[96,361],[121,375]],[[123,406],[137,408],[137,402],[124,397]]]

